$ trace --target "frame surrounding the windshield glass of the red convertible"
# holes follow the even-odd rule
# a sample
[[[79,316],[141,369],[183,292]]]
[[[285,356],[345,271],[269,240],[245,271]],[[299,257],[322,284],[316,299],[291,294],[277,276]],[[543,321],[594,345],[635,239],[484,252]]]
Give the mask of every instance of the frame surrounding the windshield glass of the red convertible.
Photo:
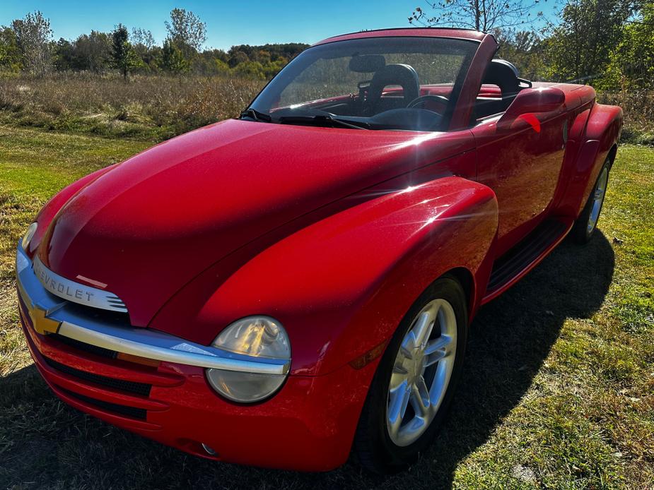
[[[374,42],[375,40],[416,40],[416,39],[421,39],[421,40],[451,40],[452,42],[457,42],[457,43],[472,43],[474,45],[474,49],[469,49],[463,56],[463,60],[460,66],[460,69],[457,73],[457,76],[455,80],[452,83],[452,91],[450,92],[449,100],[448,103],[445,107],[445,111],[442,114],[442,121],[440,123],[440,126],[442,129],[439,129],[438,131],[448,131],[450,127],[450,122],[452,121],[452,116],[455,112],[455,108],[457,106],[457,103],[460,101],[460,95],[462,92],[462,88],[464,86],[465,80],[472,68],[472,64],[475,58],[475,55],[479,51],[479,46],[481,45],[481,41],[476,40],[476,39],[468,39],[468,38],[462,38],[462,37],[448,37],[448,36],[416,36],[416,35],[380,35],[380,36],[366,36],[366,37],[354,37],[354,38],[349,38],[349,39],[337,39],[334,41],[327,41],[327,42],[320,42],[318,44],[314,44],[311,47],[308,47],[305,49],[302,53],[300,53],[296,58],[291,60],[284,68],[282,68],[279,73],[277,73],[271,80],[264,85],[262,90],[259,91],[259,93],[252,99],[252,102],[248,104],[247,109],[241,114],[241,118],[244,117],[245,112],[249,111],[250,109],[255,109],[255,110],[260,110],[257,109],[256,104],[257,101],[262,99],[262,96],[269,90],[270,86],[274,83],[278,83],[278,80],[280,77],[284,77],[284,73],[288,73],[288,71],[293,71],[296,70],[296,64],[297,61],[300,60],[301,57],[306,56],[308,53],[313,52],[314,50],[317,49],[324,49],[325,46],[330,46],[334,44],[351,44],[353,42],[359,42],[359,41],[368,41],[368,42]],[[345,57],[345,56],[344,56]],[[316,58],[315,61],[317,61]],[[279,88],[279,93],[283,92],[288,85],[293,83],[293,80],[295,80],[300,73],[303,73],[305,69],[309,68],[310,66],[315,63],[315,61],[312,61],[310,64],[307,64],[304,68],[300,69],[297,73],[295,73],[293,76],[288,77],[288,82],[284,85],[281,85],[281,88]],[[307,101],[310,102],[310,101]],[[269,113],[266,113],[269,114]],[[270,115],[270,114],[269,114]],[[348,121],[347,119],[348,116],[344,116],[343,120]],[[354,117],[354,116],[351,116]],[[251,119],[251,118],[250,118]],[[257,121],[262,122],[262,123],[267,123],[267,124],[280,124],[280,121],[274,121],[274,120],[266,120],[266,119],[257,119]],[[333,127],[333,126],[325,126],[325,127]],[[426,130],[423,129],[387,129],[390,131],[415,131],[415,132],[424,132]],[[434,131],[434,130],[431,130]]]

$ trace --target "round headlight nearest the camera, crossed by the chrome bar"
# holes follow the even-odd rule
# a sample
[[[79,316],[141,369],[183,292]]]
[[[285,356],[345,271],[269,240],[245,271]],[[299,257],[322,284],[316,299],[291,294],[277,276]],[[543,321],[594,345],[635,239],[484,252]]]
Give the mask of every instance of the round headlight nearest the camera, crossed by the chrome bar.
[[[291,359],[291,342],[286,330],[267,316],[250,316],[232,323],[216,337],[212,345],[262,359]],[[252,403],[264,400],[279,390],[286,375],[207,369],[206,379],[225,398]]]

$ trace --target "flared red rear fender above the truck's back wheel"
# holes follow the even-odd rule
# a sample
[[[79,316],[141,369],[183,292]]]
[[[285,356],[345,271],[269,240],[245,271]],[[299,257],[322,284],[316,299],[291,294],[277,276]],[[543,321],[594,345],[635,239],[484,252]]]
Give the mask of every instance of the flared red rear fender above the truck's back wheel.
[[[620,107],[602,104],[592,106],[585,126],[583,143],[573,163],[568,186],[559,205],[558,212],[561,215],[575,218],[579,216],[607,156],[617,148],[621,131]],[[613,153],[610,156],[615,155]]]

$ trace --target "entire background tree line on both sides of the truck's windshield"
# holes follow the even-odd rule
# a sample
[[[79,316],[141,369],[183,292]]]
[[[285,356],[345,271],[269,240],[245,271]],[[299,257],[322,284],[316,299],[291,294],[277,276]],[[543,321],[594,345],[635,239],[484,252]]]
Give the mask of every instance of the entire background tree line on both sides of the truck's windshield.
[[[494,32],[498,55],[532,80],[576,80],[612,92],[654,88],[654,0],[564,0],[550,19],[539,11],[546,1],[426,1],[409,23]],[[183,8],[173,8],[165,30],[162,44],[150,31],[129,31],[122,24],[112,32],[92,30],[76,40],[55,41],[49,20],[40,11],[28,13],[0,28],[0,73],[118,70],[126,78],[130,73],[233,73],[264,80],[308,47],[203,49],[206,24]]]

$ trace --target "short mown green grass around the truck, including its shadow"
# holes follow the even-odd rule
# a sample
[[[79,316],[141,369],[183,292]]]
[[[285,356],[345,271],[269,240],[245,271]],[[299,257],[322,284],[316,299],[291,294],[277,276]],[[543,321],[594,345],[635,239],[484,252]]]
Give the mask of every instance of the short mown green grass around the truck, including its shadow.
[[[654,488],[654,149],[620,148],[587,246],[564,242],[481,309],[445,430],[378,479],[208,462],[45,386],[18,326],[16,241],[58,189],[150,144],[0,126],[0,489]]]

